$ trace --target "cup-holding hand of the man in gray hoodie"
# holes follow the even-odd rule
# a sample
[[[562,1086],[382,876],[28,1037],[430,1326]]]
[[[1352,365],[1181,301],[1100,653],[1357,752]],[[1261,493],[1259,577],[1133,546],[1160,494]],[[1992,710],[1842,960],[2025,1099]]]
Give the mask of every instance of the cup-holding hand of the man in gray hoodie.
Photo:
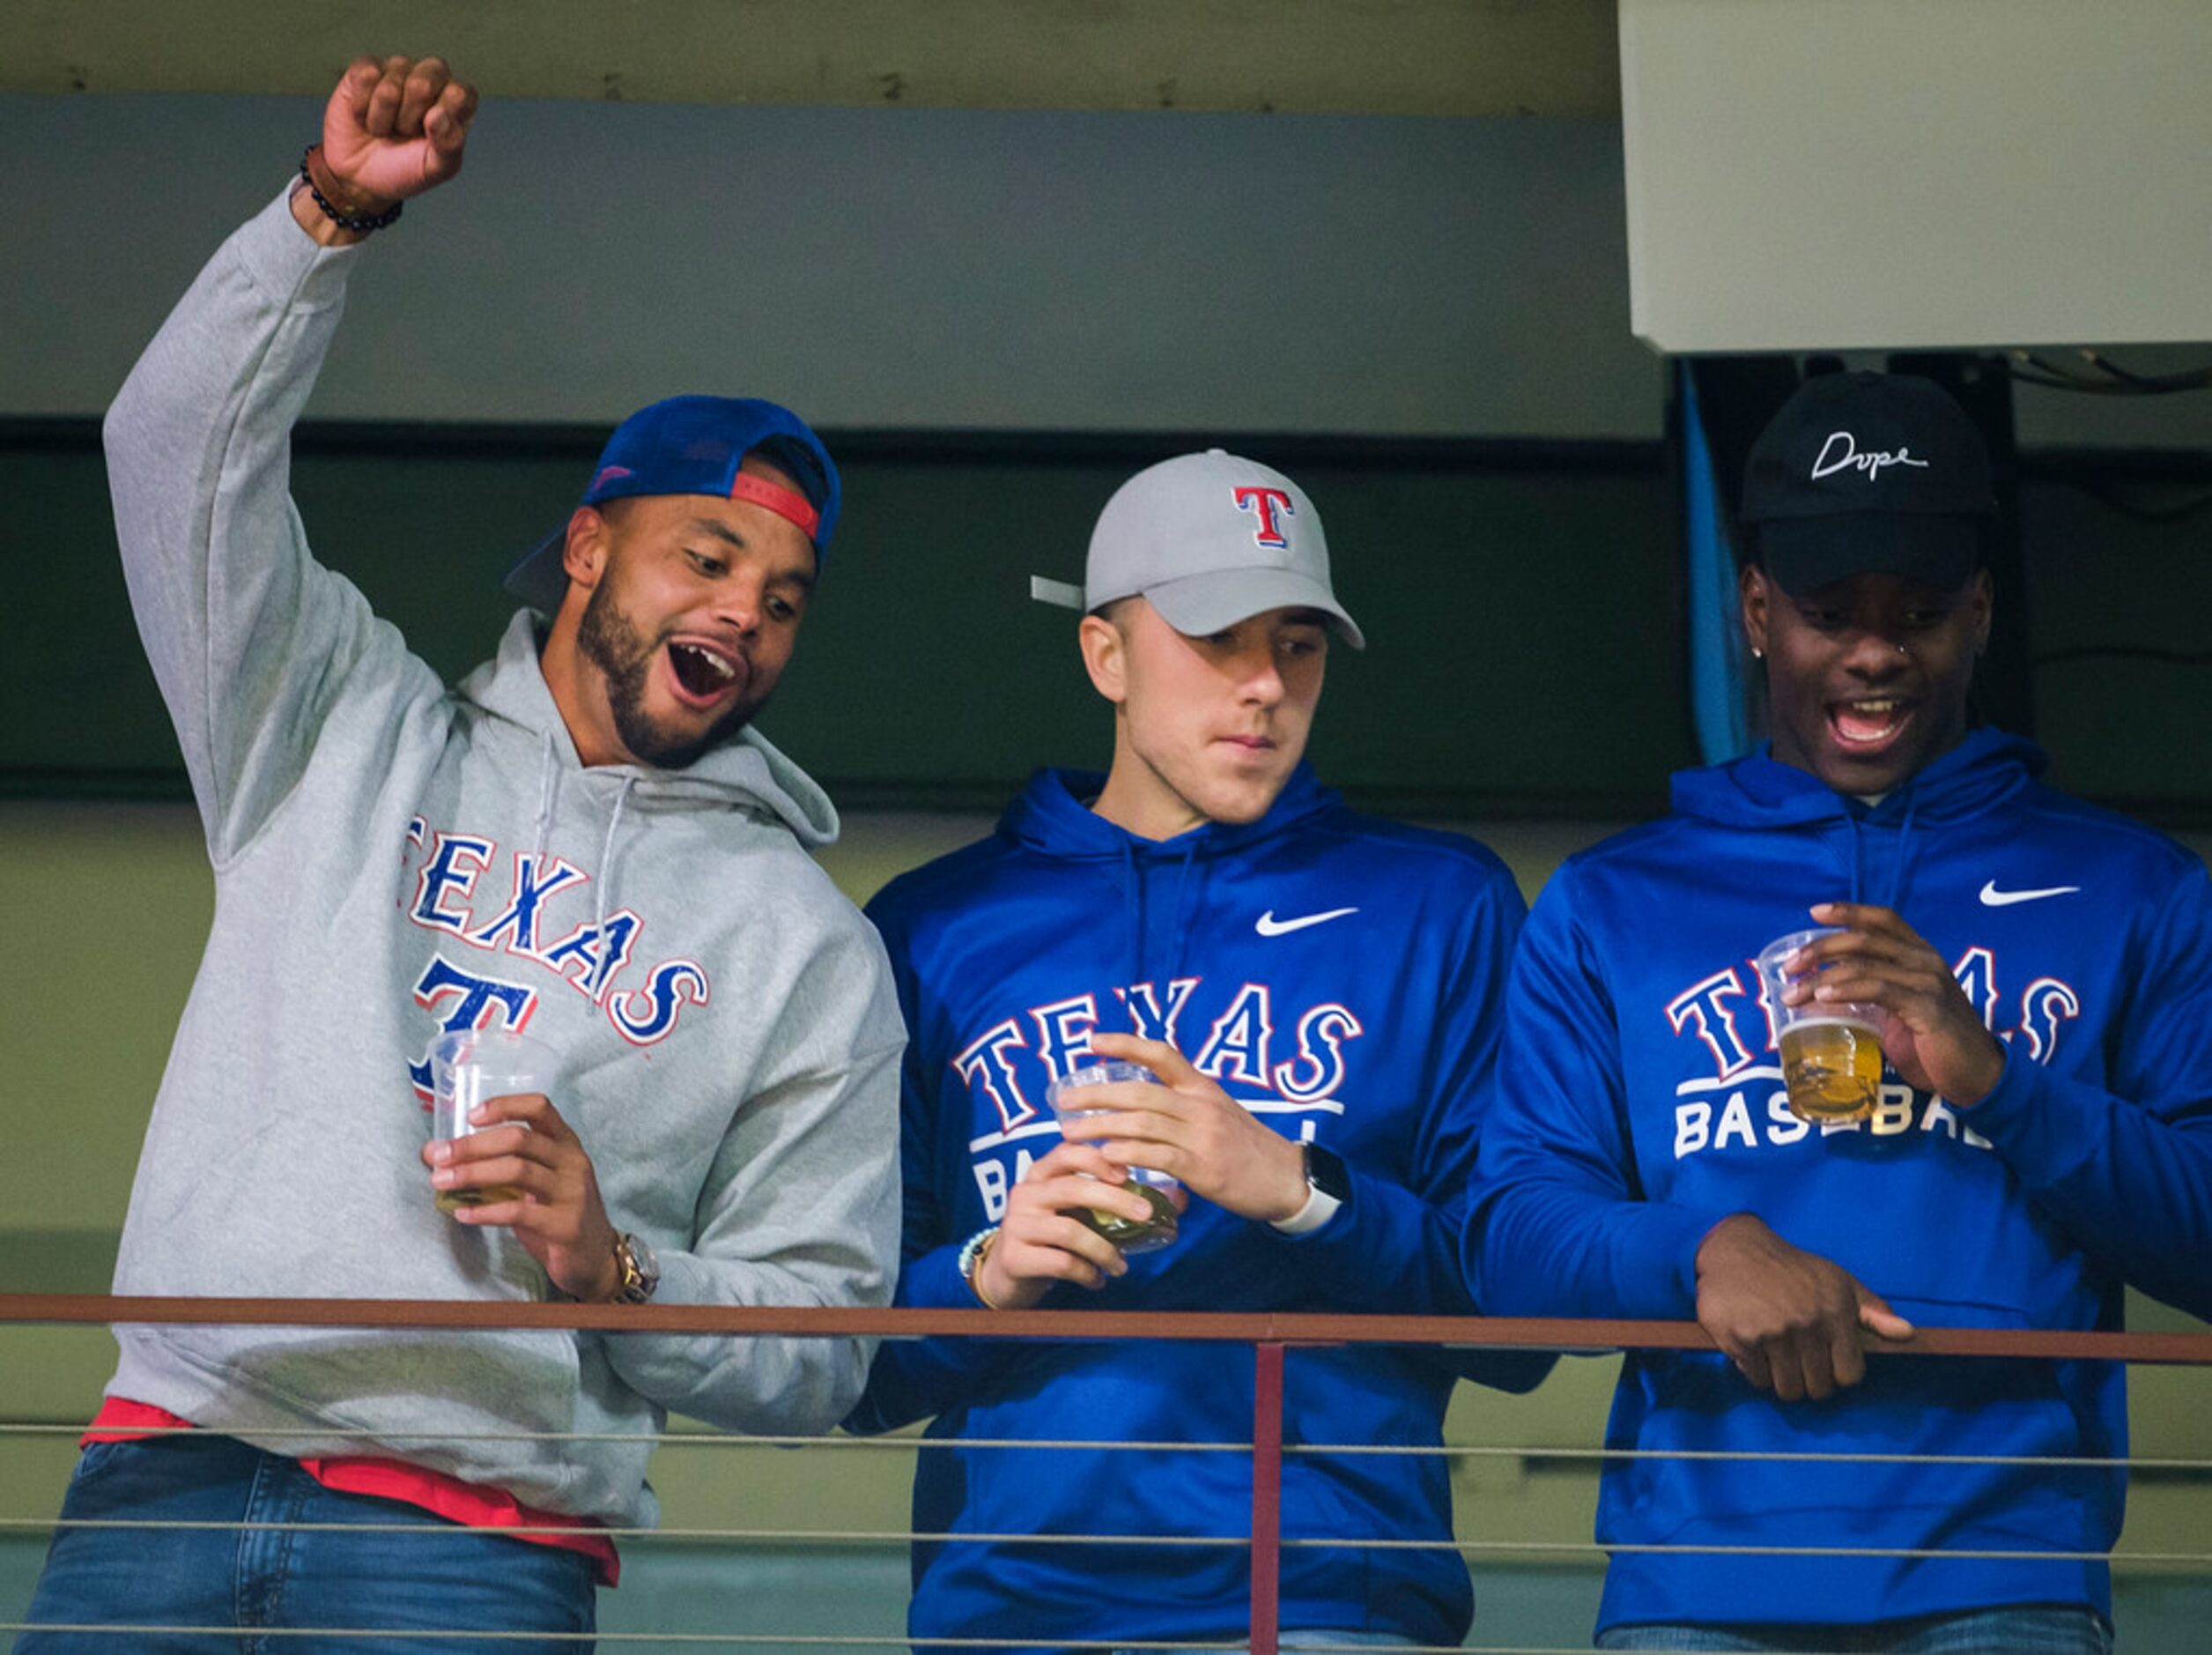
[[[453,1212],[462,1224],[502,1226],[544,1266],[571,1299],[597,1303],[622,1286],[615,1226],[599,1199],[599,1175],[582,1139],[542,1093],[491,1097],[471,1117],[467,1137],[422,1146],[438,1190],[509,1186],[511,1201],[484,1201]]]

